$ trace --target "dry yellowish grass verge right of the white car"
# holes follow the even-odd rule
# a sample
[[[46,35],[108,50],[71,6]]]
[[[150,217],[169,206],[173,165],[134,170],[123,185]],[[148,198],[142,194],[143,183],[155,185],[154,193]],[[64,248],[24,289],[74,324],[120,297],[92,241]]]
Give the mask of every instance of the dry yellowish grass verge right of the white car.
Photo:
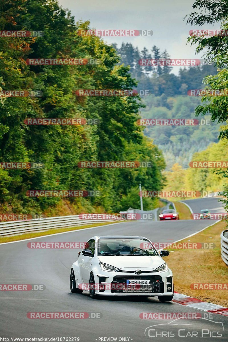
[[[191,297],[228,307],[227,290],[194,290],[194,283],[227,283],[228,266],[221,258],[220,234],[226,223],[220,221],[180,242],[213,242],[214,249],[169,249],[167,264],[173,271],[174,290]],[[166,261],[165,260],[165,261]]]

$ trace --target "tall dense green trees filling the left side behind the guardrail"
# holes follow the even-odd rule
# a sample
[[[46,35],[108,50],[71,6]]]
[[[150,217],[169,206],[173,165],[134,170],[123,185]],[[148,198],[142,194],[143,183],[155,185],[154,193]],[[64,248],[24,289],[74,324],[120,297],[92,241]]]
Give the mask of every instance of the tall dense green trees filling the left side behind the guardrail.
[[[0,168],[1,212],[47,215],[118,212],[139,207],[138,184],[163,187],[161,151],[137,126],[139,96],[77,97],[77,89],[134,89],[129,67],[95,36],[79,36],[89,22],[75,23],[57,1],[3,0],[3,30],[40,30],[38,37],[1,37],[0,159],[39,162],[38,169]],[[27,58],[93,58],[99,64],[28,65]],[[40,97],[9,97],[8,90],[41,91]],[[3,94],[3,95],[2,95]],[[29,126],[27,118],[98,119],[98,124]],[[82,169],[92,161],[149,161],[148,168]],[[93,197],[28,197],[28,190],[98,190]],[[65,202],[64,202],[65,201]],[[67,201],[67,203],[66,203]],[[61,209],[61,203],[64,210]],[[145,209],[155,206],[145,202]],[[59,208],[54,211],[53,208]]]

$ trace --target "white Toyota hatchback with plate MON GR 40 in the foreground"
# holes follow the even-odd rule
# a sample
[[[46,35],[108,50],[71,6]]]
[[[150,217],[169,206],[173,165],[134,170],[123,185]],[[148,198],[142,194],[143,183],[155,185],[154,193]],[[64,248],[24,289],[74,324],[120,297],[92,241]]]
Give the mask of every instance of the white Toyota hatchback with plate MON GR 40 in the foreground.
[[[79,252],[70,271],[70,290],[97,295],[158,296],[173,299],[173,274],[159,252],[143,236],[94,236]]]

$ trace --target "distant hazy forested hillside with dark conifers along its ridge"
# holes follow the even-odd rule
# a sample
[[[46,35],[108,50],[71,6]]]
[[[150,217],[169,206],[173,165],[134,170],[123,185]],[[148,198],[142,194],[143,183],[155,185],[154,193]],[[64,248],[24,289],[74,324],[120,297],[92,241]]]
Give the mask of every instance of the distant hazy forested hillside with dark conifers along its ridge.
[[[142,118],[196,118],[195,108],[201,99],[188,96],[187,91],[204,89],[203,78],[217,72],[214,63],[180,68],[178,75],[174,75],[172,69],[175,66],[141,66],[138,63],[140,59],[170,58],[166,50],[160,52],[158,47],[153,46],[151,52],[146,47],[139,51],[131,43],[122,43],[119,49],[117,44],[113,46],[121,57],[120,63],[129,65],[129,72],[139,81],[137,89],[149,90],[149,96],[142,96],[146,105],[141,109]],[[205,118],[209,119],[210,115]],[[219,126],[217,122],[193,127],[149,126],[144,134],[162,150],[166,170],[171,170],[174,163],[186,169],[195,152],[204,150],[212,142],[218,142]]]

